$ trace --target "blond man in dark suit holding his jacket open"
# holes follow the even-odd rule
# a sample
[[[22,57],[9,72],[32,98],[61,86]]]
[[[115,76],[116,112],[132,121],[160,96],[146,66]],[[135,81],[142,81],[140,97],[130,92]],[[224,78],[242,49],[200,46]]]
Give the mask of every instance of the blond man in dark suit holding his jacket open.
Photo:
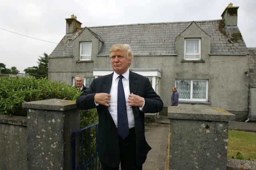
[[[76,100],[80,109],[97,108],[98,153],[103,170],[142,170],[151,147],[144,134],[144,113],[162,110],[163,102],[148,78],[131,72],[132,50],[127,44],[110,49],[114,72],[92,81]]]

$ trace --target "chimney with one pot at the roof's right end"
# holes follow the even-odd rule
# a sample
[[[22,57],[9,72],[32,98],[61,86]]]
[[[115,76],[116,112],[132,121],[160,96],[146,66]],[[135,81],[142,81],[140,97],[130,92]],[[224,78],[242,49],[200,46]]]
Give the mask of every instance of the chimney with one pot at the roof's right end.
[[[230,2],[224,12],[222,12],[221,16],[224,19],[226,26],[236,26],[237,25],[237,9],[238,6],[233,6]]]

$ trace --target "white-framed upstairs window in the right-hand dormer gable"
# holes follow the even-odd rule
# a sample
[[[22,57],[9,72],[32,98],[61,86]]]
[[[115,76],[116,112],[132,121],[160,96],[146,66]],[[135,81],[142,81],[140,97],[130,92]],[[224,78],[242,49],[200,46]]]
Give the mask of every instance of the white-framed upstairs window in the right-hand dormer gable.
[[[184,59],[200,60],[201,58],[201,39],[185,39]]]

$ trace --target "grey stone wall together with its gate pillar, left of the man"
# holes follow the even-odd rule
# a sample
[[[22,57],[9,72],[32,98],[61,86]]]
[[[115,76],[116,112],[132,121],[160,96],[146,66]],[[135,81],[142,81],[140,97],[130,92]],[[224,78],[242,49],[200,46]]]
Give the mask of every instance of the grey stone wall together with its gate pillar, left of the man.
[[[80,129],[76,102],[50,99],[22,106],[27,117],[0,115],[0,170],[72,169],[71,135]]]

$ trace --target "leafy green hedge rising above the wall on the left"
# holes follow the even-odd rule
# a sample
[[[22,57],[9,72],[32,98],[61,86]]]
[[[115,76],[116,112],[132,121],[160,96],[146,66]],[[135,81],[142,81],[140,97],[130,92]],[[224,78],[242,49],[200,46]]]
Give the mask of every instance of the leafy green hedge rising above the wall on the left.
[[[1,77],[0,84],[0,114],[5,115],[26,116],[22,102],[52,98],[76,100],[81,94],[80,90],[70,85],[46,78]]]

